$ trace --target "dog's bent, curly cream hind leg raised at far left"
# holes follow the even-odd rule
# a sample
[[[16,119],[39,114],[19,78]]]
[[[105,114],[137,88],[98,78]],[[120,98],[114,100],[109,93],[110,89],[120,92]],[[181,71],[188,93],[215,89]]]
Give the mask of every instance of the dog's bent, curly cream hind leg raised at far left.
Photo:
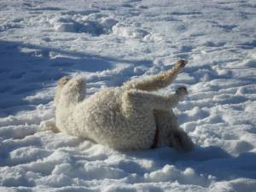
[[[67,81],[59,93],[59,104],[62,106],[75,105],[84,100],[85,82],[82,78],[73,78]]]

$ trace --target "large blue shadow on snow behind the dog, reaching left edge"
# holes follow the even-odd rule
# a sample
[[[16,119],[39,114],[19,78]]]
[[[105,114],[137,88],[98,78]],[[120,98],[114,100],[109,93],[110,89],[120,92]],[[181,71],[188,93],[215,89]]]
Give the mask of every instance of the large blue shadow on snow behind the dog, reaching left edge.
[[[102,85],[123,84],[152,66],[149,60],[116,59],[4,40],[0,41],[0,55],[0,117],[34,110],[39,104],[52,102],[55,83],[64,75],[90,74],[87,86],[91,88],[88,91],[92,94]],[[135,73],[135,66],[145,69]],[[114,71],[116,68],[119,70]],[[47,92],[48,96],[42,97],[42,92],[43,95]]]

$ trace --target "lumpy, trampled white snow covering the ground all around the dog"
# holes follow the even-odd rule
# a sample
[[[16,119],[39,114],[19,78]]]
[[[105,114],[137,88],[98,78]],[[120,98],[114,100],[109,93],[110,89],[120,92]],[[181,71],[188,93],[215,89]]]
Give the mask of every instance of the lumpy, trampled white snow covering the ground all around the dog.
[[[0,191],[256,191],[256,2],[0,2]],[[175,109],[196,144],[119,152],[63,133],[55,84],[87,94],[189,60]]]

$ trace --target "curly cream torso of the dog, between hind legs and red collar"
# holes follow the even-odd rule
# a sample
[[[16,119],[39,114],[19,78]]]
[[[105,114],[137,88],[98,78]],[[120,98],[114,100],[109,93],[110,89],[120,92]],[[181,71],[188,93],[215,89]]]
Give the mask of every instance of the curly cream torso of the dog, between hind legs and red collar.
[[[153,113],[129,119],[121,108],[122,90],[102,90],[77,107],[80,137],[118,149],[150,148],[154,140]],[[136,113],[134,114],[136,115]]]

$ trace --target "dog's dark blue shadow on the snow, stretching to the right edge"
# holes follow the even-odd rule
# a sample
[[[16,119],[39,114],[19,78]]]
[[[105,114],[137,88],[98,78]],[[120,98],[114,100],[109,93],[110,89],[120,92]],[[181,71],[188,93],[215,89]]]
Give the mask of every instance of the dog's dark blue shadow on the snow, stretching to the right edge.
[[[215,146],[195,146],[189,153],[165,147],[127,154],[138,159],[154,160],[155,166],[159,167],[174,165],[181,170],[191,167],[198,175],[211,175],[217,181],[238,177],[256,178],[256,154],[250,152],[232,156]]]

